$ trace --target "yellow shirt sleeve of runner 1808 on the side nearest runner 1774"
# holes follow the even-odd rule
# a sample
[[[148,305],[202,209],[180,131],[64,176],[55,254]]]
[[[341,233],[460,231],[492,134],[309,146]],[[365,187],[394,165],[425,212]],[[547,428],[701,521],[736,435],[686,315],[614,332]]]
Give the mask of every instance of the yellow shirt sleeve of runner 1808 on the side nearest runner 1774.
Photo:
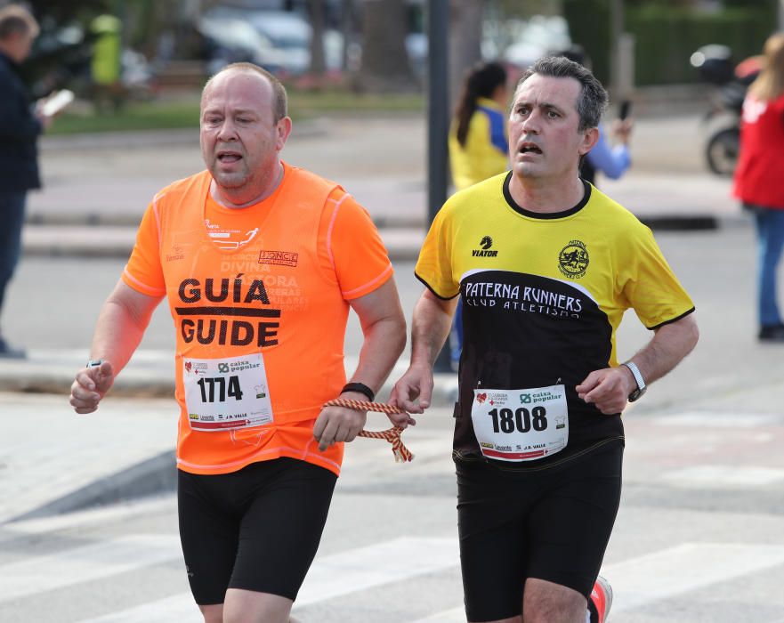
[[[441,299],[454,298],[460,293],[460,276],[452,264],[453,224],[449,201],[439,210],[424,239],[414,274]]]

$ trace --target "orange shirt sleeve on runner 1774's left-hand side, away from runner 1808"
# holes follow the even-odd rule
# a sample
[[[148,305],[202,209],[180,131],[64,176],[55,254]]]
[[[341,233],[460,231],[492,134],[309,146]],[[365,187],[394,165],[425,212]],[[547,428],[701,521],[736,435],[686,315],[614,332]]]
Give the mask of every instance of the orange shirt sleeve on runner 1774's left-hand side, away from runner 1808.
[[[158,206],[153,201],[141,218],[136,243],[123,271],[125,285],[149,296],[166,295],[166,281],[160,262],[159,216]]]

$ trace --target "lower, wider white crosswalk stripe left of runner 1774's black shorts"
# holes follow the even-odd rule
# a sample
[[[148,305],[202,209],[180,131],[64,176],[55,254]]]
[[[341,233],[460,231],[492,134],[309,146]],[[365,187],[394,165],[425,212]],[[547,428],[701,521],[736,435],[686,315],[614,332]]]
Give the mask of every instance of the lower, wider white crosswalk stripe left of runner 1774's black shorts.
[[[136,534],[0,567],[0,602],[182,558],[180,539]]]

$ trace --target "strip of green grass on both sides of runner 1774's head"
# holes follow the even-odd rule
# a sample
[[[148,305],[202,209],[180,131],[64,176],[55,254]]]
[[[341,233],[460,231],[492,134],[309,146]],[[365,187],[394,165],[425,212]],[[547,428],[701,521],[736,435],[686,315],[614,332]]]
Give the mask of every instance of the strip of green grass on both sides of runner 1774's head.
[[[295,120],[330,115],[423,112],[421,93],[351,93],[289,89],[289,112]],[[128,102],[117,112],[97,114],[89,104],[64,112],[47,134],[133,132],[198,127],[198,93],[174,101]]]

